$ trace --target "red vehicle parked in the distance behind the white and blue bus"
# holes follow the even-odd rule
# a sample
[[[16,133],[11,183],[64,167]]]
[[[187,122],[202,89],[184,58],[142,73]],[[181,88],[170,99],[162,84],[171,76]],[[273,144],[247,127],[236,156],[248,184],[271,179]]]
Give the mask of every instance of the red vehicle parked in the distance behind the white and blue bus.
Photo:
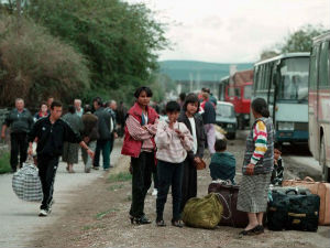
[[[252,69],[237,72],[220,82],[219,99],[233,104],[240,129],[250,123],[252,82]]]

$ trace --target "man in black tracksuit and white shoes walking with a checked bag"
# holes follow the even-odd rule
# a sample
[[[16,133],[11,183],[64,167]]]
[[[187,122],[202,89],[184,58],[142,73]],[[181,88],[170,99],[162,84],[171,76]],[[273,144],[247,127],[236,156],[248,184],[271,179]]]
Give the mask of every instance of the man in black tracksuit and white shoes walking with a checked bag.
[[[36,121],[28,137],[30,155],[33,153],[32,143],[37,138],[37,166],[44,195],[38,216],[47,216],[52,211],[54,179],[64,141],[79,143],[91,158],[94,157],[94,152],[81,141],[79,133],[75,133],[61,116],[62,104],[53,101],[51,115]]]

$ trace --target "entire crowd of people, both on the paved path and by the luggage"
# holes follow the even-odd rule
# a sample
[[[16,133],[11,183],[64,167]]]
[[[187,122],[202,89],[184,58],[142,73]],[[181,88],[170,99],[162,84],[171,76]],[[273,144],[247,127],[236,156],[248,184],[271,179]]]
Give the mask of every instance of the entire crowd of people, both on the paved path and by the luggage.
[[[154,179],[156,188],[156,226],[166,226],[163,218],[169,187],[173,195],[172,225],[183,227],[182,213],[186,203],[197,196],[197,166],[204,163],[205,148],[211,155],[209,164],[212,180],[235,184],[235,158],[227,151],[227,140],[217,139],[217,99],[204,88],[199,95],[182,94],[179,100],[168,101],[161,115],[151,107],[152,90],[140,87],[134,93],[135,103],[125,112],[117,103],[103,103],[96,97],[92,105],[81,107],[75,99],[62,117],[63,106],[50,97],[40,105],[34,115],[24,108],[24,100],[18,98],[15,108],[8,115],[2,126],[1,137],[7,128],[11,132],[12,171],[26,160],[28,153],[35,153],[43,187],[40,216],[47,216],[53,204],[53,184],[59,157],[67,163],[67,171],[74,173],[81,148],[85,172],[111,166],[110,155],[113,141],[123,134],[121,153],[131,157],[132,202],[130,220],[132,224],[150,224],[144,213],[146,193]],[[246,139],[243,177],[238,198],[238,209],[246,212],[249,225],[242,235],[263,233],[263,213],[266,211],[270,184],[280,185],[283,162],[280,147],[274,147],[274,130],[270,111],[264,99],[252,103],[255,122]],[[166,115],[165,115],[166,114]],[[33,151],[36,143],[36,152]],[[18,160],[20,153],[20,161]]]

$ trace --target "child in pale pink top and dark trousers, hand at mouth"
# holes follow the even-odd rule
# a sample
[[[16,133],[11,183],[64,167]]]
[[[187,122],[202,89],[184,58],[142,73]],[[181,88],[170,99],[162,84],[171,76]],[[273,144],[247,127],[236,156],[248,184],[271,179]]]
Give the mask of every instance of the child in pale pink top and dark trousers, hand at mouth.
[[[173,195],[172,225],[183,227],[180,220],[182,183],[184,161],[187,151],[194,145],[194,139],[186,125],[177,122],[180,106],[176,101],[166,105],[168,121],[160,121],[155,142],[157,145],[156,158],[158,173],[158,194],[156,201],[157,226],[165,226],[163,219],[164,205],[167,200],[169,186]]]

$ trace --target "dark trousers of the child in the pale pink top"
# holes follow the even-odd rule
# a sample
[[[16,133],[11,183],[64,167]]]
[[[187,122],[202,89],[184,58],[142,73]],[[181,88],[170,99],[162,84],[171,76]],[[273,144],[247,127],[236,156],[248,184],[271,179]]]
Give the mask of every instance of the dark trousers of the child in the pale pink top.
[[[184,163],[169,163],[158,160],[158,194],[156,200],[157,220],[163,219],[164,206],[172,185],[173,220],[180,219],[182,186]]]

